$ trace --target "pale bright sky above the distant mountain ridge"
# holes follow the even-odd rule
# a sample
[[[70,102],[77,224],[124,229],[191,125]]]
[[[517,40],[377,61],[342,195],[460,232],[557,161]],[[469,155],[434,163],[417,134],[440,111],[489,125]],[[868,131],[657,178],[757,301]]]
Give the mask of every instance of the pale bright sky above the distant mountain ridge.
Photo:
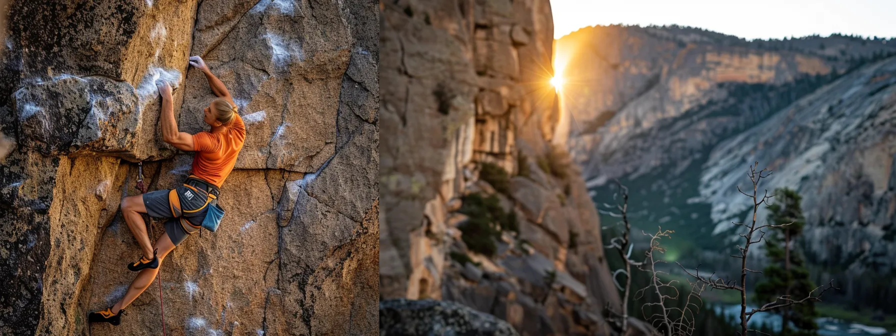
[[[896,0],[550,0],[554,38],[582,27],[678,24],[745,39],[896,37]]]

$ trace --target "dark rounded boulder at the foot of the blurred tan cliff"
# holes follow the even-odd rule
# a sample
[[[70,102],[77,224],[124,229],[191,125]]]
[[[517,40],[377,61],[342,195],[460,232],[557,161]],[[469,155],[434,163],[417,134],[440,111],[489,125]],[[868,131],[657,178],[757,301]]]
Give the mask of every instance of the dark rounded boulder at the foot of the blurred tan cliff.
[[[509,323],[450,301],[380,302],[381,335],[519,335]]]

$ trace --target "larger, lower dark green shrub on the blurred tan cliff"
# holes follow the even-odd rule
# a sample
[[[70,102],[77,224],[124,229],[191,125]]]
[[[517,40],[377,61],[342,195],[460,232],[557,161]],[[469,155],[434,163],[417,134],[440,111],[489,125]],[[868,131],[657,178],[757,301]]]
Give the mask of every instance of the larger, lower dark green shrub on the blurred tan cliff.
[[[461,229],[464,244],[470,251],[487,256],[495,255],[495,240],[501,237],[501,231],[518,232],[516,213],[507,213],[495,195],[482,197],[474,193],[461,198],[460,212],[470,217],[458,228]]]

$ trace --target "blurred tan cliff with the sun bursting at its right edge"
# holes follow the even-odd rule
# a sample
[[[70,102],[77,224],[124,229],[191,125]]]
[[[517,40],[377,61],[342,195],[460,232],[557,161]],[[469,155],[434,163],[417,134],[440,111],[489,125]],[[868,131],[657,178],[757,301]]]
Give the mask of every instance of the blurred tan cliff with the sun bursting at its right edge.
[[[523,335],[609,331],[619,297],[598,214],[551,144],[549,13],[546,0],[383,3],[381,298],[458,302]],[[515,216],[486,238],[495,254],[465,243],[481,237],[472,195]]]

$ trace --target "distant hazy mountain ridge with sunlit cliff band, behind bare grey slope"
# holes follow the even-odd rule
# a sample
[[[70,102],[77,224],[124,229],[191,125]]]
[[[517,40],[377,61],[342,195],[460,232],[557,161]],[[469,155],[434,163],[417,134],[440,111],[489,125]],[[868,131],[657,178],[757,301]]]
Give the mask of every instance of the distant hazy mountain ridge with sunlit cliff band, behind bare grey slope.
[[[558,64],[576,83],[564,87],[569,147],[594,183],[664,166],[677,173],[706,146],[892,51],[847,37],[746,42],[695,29],[583,28],[557,40]]]

